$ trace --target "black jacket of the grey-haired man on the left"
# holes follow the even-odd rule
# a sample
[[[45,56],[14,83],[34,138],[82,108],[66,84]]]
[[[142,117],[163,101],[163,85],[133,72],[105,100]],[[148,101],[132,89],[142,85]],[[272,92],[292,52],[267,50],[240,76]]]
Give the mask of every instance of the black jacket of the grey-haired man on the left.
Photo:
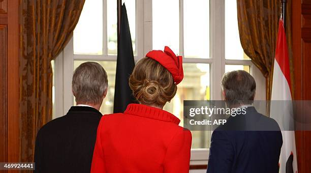
[[[34,172],[90,172],[101,117],[95,108],[73,106],[44,125],[36,138]]]

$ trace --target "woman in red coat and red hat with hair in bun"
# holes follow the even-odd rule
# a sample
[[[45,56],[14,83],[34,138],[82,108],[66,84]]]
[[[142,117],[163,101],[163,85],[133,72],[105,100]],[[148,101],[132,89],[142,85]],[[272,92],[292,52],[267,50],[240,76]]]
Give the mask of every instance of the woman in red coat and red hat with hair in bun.
[[[189,172],[191,132],[162,110],[182,78],[182,57],[169,47],[136,64],[129,84],[140,104],[102,117],[91,172]]]

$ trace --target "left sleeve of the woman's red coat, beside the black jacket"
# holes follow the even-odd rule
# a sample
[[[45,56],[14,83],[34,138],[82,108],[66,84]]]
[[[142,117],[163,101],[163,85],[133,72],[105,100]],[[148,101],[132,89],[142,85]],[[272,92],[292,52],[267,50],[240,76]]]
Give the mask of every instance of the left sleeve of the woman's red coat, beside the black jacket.
[[[102,132],[102,126],[103,126],[103,120],[104,117],[102,117],[99,126],[97,128],[97,137],[96,137],[96,143],[92,158],[92,165],[91,165],[91,173],[105,173],[106,167],[105,167],[105,160],[104,160],[104,150],[102,147],[102,141],[101,141],[101,132]]]

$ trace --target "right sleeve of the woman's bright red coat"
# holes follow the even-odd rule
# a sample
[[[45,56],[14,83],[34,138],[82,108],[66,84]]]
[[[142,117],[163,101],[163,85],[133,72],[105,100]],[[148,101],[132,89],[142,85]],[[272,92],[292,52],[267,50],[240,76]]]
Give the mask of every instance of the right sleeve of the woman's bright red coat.
[[[189,172],[192,135],[189,130],[178,130],[164,158],[165,173]]]

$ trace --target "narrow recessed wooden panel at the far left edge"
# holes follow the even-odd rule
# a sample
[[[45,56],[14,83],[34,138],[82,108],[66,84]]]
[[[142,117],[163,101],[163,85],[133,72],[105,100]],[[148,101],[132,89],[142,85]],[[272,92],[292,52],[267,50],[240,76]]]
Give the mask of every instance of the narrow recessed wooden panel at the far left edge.
[[[0,162],[7,160],[7,25],[0,24]]]

